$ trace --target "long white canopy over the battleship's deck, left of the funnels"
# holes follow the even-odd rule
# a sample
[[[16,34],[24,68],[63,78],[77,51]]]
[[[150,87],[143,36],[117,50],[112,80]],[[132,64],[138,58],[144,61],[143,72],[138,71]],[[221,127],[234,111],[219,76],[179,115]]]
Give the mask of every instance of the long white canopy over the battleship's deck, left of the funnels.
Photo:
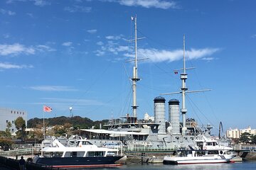
[[[149,133],[143,132],[127,132],[127,131],[114,131],[114,130],[102,130],[102,129],[81,129],[85,132],[114,134],[114,135],[149,135]]]

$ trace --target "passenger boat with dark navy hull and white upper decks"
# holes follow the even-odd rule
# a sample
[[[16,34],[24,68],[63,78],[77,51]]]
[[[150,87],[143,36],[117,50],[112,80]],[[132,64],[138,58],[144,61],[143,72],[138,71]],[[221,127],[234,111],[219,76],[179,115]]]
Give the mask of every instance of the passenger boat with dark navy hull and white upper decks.
[[[123,157],[117,149],[97,147],[86,139],[78,140],[71,147],[53,140],[50,147],[44,147],[42,151],[41,157],[33,158],[33,163],[57,168],[120,166],[115,162]]]

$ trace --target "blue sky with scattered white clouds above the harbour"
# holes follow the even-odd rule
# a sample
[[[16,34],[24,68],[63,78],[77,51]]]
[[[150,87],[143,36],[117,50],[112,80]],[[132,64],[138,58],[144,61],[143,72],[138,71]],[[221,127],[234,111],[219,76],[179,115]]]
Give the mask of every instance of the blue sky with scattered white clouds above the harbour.
[[[153,100],[181,87],[186,35],[188,116],[218,128],[255,127],[256,2],[161,0],[0,1],[0,105],[43,118],[73,114],[92,120],[132,113],[137,15],[138,117]],[[181,96],[164,96],[181,100]],[[166,118],[167,118],[166,104]]]

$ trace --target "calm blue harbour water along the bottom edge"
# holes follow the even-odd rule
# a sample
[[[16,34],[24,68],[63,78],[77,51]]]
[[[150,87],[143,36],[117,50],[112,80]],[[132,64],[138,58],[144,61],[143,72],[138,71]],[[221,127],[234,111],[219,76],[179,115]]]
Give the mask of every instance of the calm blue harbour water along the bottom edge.
[[[164,164],[128,164],[119,166],[117,168],[101,168],[101,170],[186,170],[186,169],[196,169],[196,170],[215,170],[215,169],[254,169],[256,170],[255,162],[240,162],[240,163],[230,163],[230,164],[191,164],[191,165],[164,165]],[[82,169],[79,169],[82,170]],[[88,170],[88,169],[86,169]],[[93,169],[93,170],[96,170]]]

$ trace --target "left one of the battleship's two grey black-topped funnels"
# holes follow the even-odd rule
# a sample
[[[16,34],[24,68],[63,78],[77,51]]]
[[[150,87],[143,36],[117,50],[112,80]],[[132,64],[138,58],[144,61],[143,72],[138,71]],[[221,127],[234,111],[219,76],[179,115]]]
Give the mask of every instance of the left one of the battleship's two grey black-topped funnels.
[[[165,121],[165,99],[163,97],[154,98],[154,123],[159,123],[159,133],[166,133]]]

